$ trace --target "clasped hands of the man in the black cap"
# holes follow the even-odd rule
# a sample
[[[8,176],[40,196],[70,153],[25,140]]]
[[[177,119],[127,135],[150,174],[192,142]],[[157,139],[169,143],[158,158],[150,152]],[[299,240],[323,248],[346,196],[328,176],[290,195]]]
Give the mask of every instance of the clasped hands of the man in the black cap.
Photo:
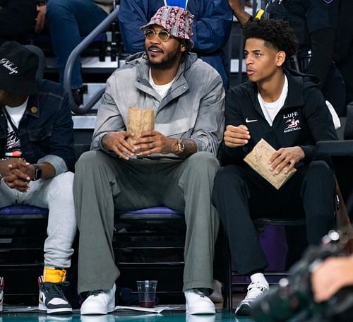
[[[11,188],[20,192],[28,191],[30,179],[34,177],[35,167],[22,159],[9,159],[9,171],[4,176],[4,182]]]

